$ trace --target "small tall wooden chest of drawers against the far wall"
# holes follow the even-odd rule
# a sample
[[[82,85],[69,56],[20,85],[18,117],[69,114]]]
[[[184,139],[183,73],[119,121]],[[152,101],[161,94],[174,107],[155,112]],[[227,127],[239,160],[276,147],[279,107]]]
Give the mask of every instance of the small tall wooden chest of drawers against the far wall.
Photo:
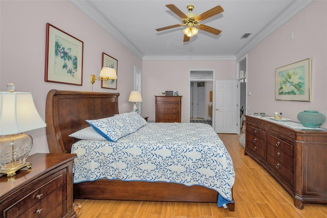
[[[181,122],[182,96],[155,96],[155,122]]]

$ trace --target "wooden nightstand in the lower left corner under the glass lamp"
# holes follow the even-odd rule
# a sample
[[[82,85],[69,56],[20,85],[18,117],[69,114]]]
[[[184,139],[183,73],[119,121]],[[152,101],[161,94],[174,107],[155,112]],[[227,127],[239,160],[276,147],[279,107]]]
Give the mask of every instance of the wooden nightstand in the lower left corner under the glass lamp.
[[[32,167],[0,175],[0,217],[76,217],[73,210],[75,154],[34,154]]]

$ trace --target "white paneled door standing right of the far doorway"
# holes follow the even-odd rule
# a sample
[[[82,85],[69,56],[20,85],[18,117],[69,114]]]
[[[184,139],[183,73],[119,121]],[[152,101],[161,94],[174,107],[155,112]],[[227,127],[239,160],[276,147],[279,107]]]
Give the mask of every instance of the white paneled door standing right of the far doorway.
[[[216,133],[237,133],[237,84],[237,80],[216,80]]]

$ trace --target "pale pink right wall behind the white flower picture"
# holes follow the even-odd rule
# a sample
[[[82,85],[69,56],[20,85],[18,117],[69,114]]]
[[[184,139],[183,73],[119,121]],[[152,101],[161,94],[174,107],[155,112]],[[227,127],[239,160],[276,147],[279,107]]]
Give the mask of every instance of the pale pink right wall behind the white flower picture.
[[[315,1],[248,52],[247,114],[282,112],[297,120],[298,112],[316,110],[327,116],[327,2]],[[293,33],[293,40],[289,40]],[[312,100],[275,100],[275,69],[312,59]],[[327,122],[321,127],[326,128]]]

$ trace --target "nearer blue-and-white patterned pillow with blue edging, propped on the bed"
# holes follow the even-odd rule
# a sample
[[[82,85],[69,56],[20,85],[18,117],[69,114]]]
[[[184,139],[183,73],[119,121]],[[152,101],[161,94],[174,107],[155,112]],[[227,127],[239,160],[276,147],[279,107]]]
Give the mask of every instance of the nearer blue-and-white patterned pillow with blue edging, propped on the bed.
[[[135,132],[134,128],[121,116],[107,117],[98,120],[86,120],[101,136],[111,142]]]

